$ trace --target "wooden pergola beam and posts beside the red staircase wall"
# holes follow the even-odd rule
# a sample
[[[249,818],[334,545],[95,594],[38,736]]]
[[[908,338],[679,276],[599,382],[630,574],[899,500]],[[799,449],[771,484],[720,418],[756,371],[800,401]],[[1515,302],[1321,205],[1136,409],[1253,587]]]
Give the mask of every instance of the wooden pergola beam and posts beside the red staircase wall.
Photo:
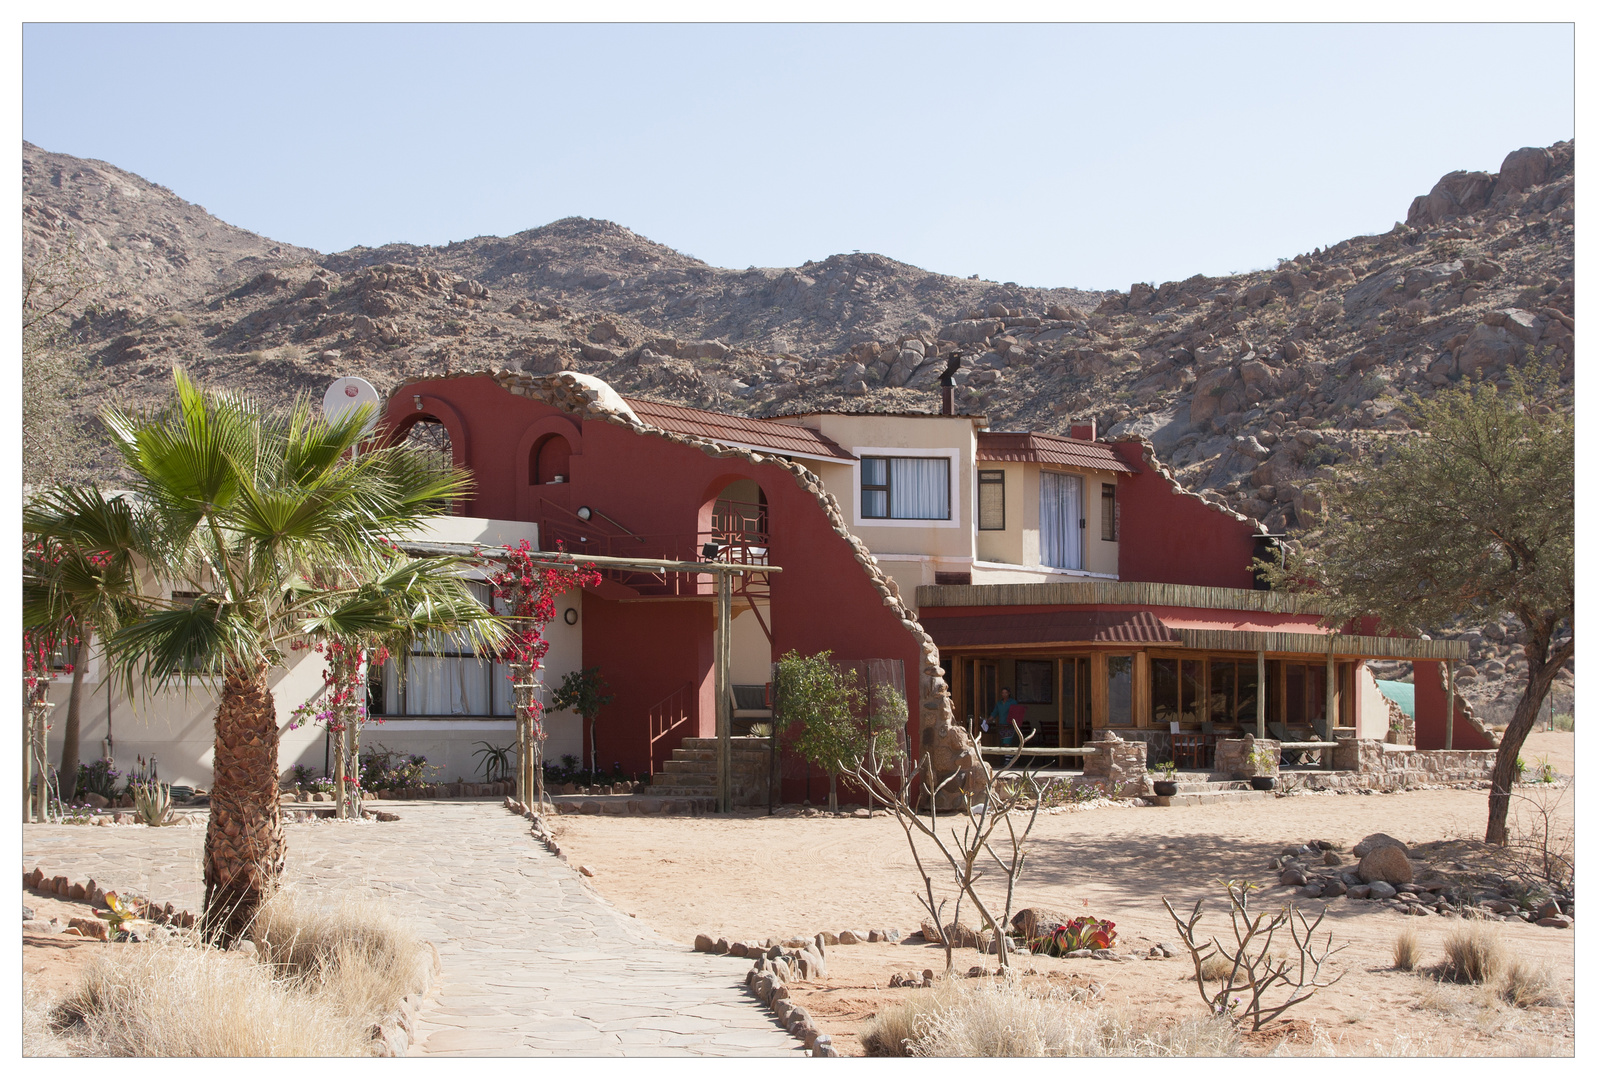
[[[505,546],[470,543],[401,542],[407,554],[450,554],[503,561],[511,554]],[[517,551],[517,554],[521,554]],[[749,574],[781,574],[779,566],[711,562],[688,559],[623,559],[607,554],[532,553],[533,566],[591,566],[596,570],[634,574],[714,574],[715,575],[715,804],[722,813],[731,810],[731,578]],[[532,692],[537,681],[530,669],[514,673],[516,687],[516,796],[521,802],[541,800],[543,784],[537,775],[532,746]]]

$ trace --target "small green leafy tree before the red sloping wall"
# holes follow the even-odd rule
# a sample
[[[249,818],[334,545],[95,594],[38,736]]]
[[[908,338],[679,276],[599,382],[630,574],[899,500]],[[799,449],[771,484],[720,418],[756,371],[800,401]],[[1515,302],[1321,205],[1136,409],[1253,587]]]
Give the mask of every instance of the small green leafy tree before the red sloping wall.
[[[792,737],[792,748],[811,765],[826,770],[830,789],[826,805],[837,810],[837,775],[858,768],[869,749],[861,724],[864,692],[853,669],[832,663],[832,653],[803,657],[789,652],[776,661],[776,722]]]

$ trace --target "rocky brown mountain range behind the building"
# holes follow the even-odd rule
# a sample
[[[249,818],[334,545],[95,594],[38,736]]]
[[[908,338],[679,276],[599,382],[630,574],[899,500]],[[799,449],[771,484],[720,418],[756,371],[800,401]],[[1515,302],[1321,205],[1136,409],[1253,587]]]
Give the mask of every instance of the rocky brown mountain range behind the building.
[[[573,367],[624,393],[746,414],[936,409],[995,428],[1094,419],[1273,532],[1308,524],[1332,467],[1383,454],[1405,403],[1532,353],[1573,379],[1575,145],[1450,173],[1404,222],[1254,273],[1124,292],[950,278],[880,254],[727,270],[604,220],[442,248],[319,254],[227,225],[101,161],[24,144],[24,254],[75,244],[97,280],[70,331],[73,407],[161,399],[184,364],[281,401],[358,374]],[[80,478],[115,470],[86,455]],[[1493,711],[1479,644],[1477,708]],[[1488,650],[1492,655],[1488,655]]]

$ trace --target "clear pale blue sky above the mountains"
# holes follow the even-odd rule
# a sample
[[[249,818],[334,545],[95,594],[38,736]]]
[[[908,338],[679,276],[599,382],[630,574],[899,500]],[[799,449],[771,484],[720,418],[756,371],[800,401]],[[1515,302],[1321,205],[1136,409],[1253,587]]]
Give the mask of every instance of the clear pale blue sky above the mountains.
[[[22,134],[339,251],[605,217],[1127,288],[1385,232],[1573,136],[1547,26],[51,26]]]

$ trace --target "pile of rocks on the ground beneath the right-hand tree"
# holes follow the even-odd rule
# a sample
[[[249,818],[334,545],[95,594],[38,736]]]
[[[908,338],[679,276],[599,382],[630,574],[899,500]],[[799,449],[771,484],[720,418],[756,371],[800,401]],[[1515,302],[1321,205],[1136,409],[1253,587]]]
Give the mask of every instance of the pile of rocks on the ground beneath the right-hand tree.
[[[1401,840],[1373,832],[1353,848],[1353,864],[1333,840],[1310,840],[1289,847],[1270,860],[1281,872],[1281,883],[1297,887],[1310,899],[1380,903],[1405,915],[1445,915],[1506,922],[1535,922],[1538,927],[1568,930],[1575,925],[1575,899],[1560,890],[1541,903],[1514,899],[1511,882],[1501,874],[1474,874],[1471,883],[1444,880],[1433,871],[1417,872],[1410,852]],[[1425,868],[1421,868],[1425,869]],[[1425,877],[1415,882],[1415,877]],[[1517,890],[1524,898],[1524,890]]]

